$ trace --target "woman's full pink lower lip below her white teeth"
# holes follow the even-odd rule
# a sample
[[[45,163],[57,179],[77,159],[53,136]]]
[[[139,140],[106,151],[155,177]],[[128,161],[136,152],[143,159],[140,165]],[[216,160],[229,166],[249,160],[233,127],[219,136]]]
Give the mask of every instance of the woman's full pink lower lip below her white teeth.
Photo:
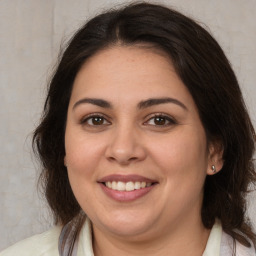
[[[155,185],[151,185],[150,187],[135,189],[132,191],[119,191],[119,190],[113,190],[111,188],[108,188],[102,183],[99,183],[99,185],[101,186],[102,190],[105,192],[107,196],[119,202],[129,202],[129,201],[134,201],[138,198],[141,198],[144,195],[146,195],[148,192],[150,192],[155,186]]]

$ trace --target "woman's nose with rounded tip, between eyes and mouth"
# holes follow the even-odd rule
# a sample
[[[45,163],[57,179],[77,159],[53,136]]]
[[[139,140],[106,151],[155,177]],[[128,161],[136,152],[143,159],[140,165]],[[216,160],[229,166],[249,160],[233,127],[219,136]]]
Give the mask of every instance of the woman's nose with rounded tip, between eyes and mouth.
[[[146,149],[135,128],[123,127],[113,131],[106,150],[109,161],[129,165],[146,158]]]

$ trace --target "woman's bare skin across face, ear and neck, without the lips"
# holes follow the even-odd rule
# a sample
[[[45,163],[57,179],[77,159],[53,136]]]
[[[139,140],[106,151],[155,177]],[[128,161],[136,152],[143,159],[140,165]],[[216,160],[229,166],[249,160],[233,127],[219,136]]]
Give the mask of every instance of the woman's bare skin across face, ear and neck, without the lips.
[[[176,101],[138,108],[166,97]],[[210,232],[200,217],[203,185],[213,164],[221,169],[221,153],[207,143],[191,94],[161,52],[114,46],[87,60],[74,82],[65,148],[71,187],[93,223],[95,255],[202,255]],[[157,184],[119,202],[98,183],[112,174]]]

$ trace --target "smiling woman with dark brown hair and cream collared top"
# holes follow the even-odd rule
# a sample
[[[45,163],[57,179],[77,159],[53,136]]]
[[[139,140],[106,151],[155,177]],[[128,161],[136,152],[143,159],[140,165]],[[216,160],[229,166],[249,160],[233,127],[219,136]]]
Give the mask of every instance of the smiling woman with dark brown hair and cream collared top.
[[[255,255],[255,133],[211,35],[168,8],[101,14],[72,38],[34,146],[57,226],[5,255]]]

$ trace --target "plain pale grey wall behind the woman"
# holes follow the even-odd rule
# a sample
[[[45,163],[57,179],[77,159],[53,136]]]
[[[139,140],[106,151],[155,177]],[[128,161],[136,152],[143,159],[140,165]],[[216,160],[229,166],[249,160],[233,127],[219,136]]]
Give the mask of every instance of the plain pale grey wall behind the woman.
[[[51,225],[31,132],[61,42],[124,0],[0,0],[0,250]],[[256,126],[256,1],[165,0],[206,24],[231,61]],[[256,227],[256,193],[248,199]]]

